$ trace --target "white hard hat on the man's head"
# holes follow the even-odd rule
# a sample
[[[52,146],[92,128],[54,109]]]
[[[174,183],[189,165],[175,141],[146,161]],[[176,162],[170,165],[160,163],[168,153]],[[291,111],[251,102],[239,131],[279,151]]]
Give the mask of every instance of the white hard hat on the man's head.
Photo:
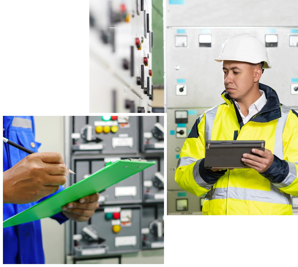
[[[265,44],[257,36],[249,33],[236,34],[226,40],[220,56],[214,60],[235,60],[253,64],[264,61],[263,68],[271,68]]]

